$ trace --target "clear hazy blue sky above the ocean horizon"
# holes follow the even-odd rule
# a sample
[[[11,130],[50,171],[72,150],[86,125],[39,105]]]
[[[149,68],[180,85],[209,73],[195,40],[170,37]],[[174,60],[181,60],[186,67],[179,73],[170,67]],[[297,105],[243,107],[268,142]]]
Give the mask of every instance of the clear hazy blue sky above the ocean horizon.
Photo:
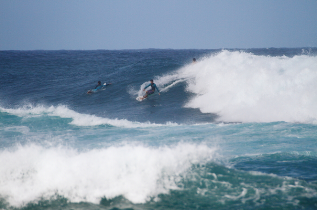
[[[0,0],[0,50],[317,47],[317,0]]]

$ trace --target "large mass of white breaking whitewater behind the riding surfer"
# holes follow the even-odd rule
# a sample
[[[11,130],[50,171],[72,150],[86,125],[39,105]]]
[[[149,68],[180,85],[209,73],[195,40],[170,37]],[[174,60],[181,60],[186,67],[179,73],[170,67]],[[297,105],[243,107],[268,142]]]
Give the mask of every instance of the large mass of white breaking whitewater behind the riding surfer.
[[[157,79],[184,80],[184,107],[225,122],[317,123],[317,56],[260,56],[223,50]],[[168,87],[168,86],[167,86]]]

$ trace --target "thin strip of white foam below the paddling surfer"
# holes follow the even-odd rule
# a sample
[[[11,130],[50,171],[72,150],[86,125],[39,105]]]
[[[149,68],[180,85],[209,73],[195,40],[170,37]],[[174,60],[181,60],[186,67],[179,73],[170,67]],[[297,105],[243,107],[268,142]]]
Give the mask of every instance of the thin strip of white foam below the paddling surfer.
[[[167,122],[166,124],[155,124],[150,122],[131,122],[126,119],[109,119],[98,117],[95,115],[81,114],[76,111],[68,109],[64,105],[57,107],[50,106],[24,106],[16,109],[7,109],[0,107],[1,112],[7,112],[21,117],[38,117],[41,115],[59,116],[61,118],[71,118],[70,124],[77,126],[96,126],[96,125],[111,125],[115,127],[136,128],[136,127],[161,127],[161,126],[176,126],[178,124]]]

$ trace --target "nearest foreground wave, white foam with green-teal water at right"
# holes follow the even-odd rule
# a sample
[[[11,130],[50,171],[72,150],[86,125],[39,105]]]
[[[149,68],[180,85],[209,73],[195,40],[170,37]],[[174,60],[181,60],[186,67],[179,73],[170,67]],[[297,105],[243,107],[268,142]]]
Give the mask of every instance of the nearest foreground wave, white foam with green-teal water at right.
[[[295,207],[315,204],[309,201],[316,201],[316,179],[310,183],[286,176],[294,174],[294,164],[316,171],[312,159],[303,164],[302,158],[289,156],[292,162],[285,164],[276,155],[260,155],[254,160],[241,157],[235,158],[235,168],[231,168],[214,163],[217,158],[217,148],[189,143],[155,148],[124,144],[83,152],[62,146],[18,146],[0,151],[0,198],[15,207],[52,195],[73,204],[98,204],[103,198],[110,203],[122,196],[138,205],[173,204],[173,209],[179,207],[173,201],[183,205],[188,198],[195,198],[191,202],[203,207],[207,204],[208,209],[228,209],[228,205],[245,209],[272,201]]]

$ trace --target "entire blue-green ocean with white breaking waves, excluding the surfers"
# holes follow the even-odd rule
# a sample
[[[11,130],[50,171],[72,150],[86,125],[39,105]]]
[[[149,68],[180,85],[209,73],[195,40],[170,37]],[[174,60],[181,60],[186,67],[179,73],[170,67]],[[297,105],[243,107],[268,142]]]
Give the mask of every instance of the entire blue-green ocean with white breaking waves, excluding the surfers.
[[[0,90],[0,210],[317,209],[317,48],[0,51]]]

